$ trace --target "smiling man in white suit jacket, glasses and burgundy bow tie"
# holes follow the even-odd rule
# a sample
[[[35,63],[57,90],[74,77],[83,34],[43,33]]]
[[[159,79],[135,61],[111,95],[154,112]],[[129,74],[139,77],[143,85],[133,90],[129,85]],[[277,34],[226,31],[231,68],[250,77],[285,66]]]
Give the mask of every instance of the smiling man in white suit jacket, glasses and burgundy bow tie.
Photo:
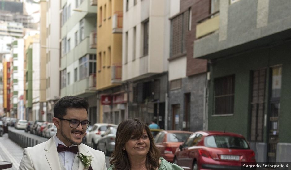
[[[77,157],[81,154],[93,155],[89,169],[106,170],[104,153],[82,144],[90,125],[88,108],[83,98],[61,98],[54,106],[57,134],[46,142],[25,148],[19,170],[84,170],[83,162]]]

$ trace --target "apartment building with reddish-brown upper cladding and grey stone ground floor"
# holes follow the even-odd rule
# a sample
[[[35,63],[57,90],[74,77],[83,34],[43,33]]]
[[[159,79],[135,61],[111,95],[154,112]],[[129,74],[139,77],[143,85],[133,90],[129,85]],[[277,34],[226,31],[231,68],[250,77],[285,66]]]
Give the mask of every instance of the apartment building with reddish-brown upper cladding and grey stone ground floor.
[[[210,9],[210,1],[171,1],[169,127],[173,130],[207,129],[207,60],[193,58],[193,41],[197,21]]]

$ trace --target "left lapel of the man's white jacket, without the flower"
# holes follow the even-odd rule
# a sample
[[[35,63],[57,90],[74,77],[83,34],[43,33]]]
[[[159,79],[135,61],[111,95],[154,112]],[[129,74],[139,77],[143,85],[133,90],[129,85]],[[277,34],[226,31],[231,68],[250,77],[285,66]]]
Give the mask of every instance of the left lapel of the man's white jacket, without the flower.
[[[50,164],[50,168],[53,170],[61,170],[59,155],[54,142],[54,136],[46,142],[45,150],[47,151],[45,155],[48,163]]]

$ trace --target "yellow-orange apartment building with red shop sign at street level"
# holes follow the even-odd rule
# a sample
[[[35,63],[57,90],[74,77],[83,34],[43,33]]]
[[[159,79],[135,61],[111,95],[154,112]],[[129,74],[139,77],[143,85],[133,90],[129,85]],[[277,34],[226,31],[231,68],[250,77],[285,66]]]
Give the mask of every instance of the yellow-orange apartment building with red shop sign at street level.
[[[98,1],[97,82],[99,122],[119,124],[127,112],[121,83],[123,1]]]

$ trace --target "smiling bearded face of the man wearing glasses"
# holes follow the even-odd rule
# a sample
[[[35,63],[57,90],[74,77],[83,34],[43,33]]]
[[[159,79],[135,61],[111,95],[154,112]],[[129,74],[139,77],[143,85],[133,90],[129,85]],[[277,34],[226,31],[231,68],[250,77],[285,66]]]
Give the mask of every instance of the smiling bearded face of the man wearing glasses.
[[[88,121],[88,114],[85,108],[67,108],[66,115],[63,119]],[[86,129],[83,129],[81,124],[77,128],[71,128],[70,122],[53,118],[54,124],[57,127],[57,137],[68,147],[72,144],[80,145],[85,136]]]

